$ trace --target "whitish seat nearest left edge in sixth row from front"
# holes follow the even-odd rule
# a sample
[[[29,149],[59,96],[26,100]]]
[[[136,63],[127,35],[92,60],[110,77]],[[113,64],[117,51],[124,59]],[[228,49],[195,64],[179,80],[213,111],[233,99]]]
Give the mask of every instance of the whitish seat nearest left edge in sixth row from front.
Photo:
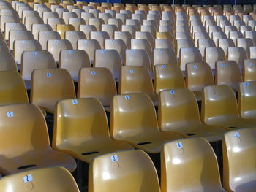
[[[13,50],[14,42],[16,40],[34,40],[34,35],[31,33],[31,31],[14,31],[11,30],[9,33],[9,48],[10,50]]]

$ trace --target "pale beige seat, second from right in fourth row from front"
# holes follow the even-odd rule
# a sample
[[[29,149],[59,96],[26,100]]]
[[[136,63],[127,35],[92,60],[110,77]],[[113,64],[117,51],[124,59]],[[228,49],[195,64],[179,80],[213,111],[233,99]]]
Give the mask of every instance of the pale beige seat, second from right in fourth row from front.
[[[227,60],[236,61],[238,66],[242,69],[244,59],[248,58],[246,51],[242,47],[228,47],[227,48]]]

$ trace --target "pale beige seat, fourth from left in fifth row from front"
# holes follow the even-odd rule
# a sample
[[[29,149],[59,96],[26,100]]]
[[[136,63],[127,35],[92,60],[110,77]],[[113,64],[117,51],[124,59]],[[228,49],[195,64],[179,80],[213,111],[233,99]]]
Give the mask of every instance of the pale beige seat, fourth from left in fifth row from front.
[[[86,51],[91,64],[94,63],[94,51],[101,49],[99,42],[95,39],[78,40],[78,50]]]

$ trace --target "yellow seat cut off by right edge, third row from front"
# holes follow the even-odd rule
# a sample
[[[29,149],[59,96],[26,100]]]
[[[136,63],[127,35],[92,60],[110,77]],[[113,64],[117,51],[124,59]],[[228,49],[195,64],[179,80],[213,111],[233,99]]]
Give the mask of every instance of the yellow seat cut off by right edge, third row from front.
[[[243,81],[256,80],[256,58],[244,59],[243,65]]]

